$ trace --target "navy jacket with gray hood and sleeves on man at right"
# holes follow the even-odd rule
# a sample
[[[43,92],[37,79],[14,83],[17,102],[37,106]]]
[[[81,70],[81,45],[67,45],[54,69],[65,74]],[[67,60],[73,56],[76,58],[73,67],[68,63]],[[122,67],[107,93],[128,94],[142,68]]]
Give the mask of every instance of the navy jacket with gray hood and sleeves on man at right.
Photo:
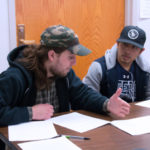
[[[110,50],[106,51],[103,60],[100,58],[101,60],[100,59],[98,61],[96,60],[91,64],[87,75],[83,79],[83,82],[87,84],[89,87],[93,88],[94,90],[101,92],[102,94],[105,93],[104,94],[105,96],[110,97],[113,94],[113,92],[115,92],[117,89],[117,86],[116,86],[117,78],[115,77],[115,74],[117,74],[117,71],[115,70],[116,57],[117,57],[117,44],[115,44]],[[142,98],[141,100],[147,99],[150,94],[149,92],[150,90],[149,89],[150,65],[148,65],[148,62],[145,61],[143,55],[140,55],[139,57],[137,57],[135,64],[136,64],[137,85],[140,85],[136,88],[137,93],[141,90],[140,87],[143,88],[142,89],[143,94],[140,94],[139,96],[137,96],[137,99],[141,99],[141,98]],[[104,84],[101,84],[103,75],[106,72],[106,70],[105,72],[103,72],[104,71],[103,65],[106,66],[106,70],[108,72],[107,77],[109,78],[109,80],[110,78],[112,78],[111,80],[113,80],[114,84],[111,84],[111,86],[109,85],[111,89],[108,89]],[[142,82],[144,81],[142,78],[144,78],[145,82]],[[141,79],[141,82],[139,79]],[[107,82],[105,83],[107,84]],[[147,88],[147,89],[144,89],[144,88]],[[104,90],[106,92],[103,92]],[[107,92],[107,91],[111,91],[111,92]],[[145,95],[144,93],[147,93],[146,94],[147,96],[144,96]]]

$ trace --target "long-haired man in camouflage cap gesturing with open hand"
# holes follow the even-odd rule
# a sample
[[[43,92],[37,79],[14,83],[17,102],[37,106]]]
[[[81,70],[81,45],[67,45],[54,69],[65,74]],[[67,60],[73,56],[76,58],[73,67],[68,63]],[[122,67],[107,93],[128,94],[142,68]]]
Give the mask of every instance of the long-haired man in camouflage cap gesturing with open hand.
[[[40,45],[11,51],[10,67],[0,75],[0,125],[45,120],[70,109],[107,110],[125,117],[130,106],[118,97],[120,90],[104,106],[107,97],[83,84],[71,69],[75,55],[90,52],[73,30],[62,25],[48,27],[41,34]]]

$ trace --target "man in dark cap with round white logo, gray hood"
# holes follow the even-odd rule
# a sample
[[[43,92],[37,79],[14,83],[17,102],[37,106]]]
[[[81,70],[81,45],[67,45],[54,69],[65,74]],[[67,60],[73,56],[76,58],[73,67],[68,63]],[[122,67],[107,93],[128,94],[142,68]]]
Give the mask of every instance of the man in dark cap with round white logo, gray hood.
[[[149,99],[150,65],[140,55],[145,41],[141,28],[125,26],[117,44],[91,64],[83,82],[107,97],[121,88],[120,97],[126,102]]]

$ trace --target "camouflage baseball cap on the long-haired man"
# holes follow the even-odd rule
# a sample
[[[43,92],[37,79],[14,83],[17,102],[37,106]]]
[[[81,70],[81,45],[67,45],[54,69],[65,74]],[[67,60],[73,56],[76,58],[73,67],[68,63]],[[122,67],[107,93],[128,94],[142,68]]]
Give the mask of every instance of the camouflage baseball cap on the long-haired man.
[[[78,36],[74,31],[63,25],[48,27],[41,34],[41,44],[49,47],[64,48],[73,54],[85,56],[91,53],[89,49],[79,43]]]

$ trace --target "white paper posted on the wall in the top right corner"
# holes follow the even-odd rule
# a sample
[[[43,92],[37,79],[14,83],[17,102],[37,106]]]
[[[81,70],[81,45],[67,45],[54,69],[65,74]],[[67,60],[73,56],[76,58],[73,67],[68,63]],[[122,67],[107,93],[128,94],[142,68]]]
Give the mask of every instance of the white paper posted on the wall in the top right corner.
[[[140,0],[140,18],[150,18],[150,0]]]

